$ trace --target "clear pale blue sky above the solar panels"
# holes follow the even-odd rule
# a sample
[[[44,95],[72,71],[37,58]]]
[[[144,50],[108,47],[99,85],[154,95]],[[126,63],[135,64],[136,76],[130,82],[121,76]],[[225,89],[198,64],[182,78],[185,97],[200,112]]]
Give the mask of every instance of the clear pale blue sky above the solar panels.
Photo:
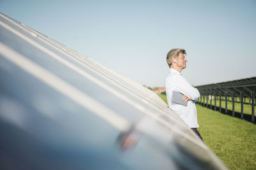
[[[0,11],[113,71],[163,87],[184,48],[192,85],[256,76],[256,1],[12,1]]]

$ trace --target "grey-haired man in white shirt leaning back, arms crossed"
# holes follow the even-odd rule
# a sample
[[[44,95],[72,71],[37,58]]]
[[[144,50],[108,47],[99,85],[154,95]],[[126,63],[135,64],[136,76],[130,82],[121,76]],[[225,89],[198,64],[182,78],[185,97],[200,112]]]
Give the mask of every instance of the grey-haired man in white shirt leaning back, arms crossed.
[[[197,123],[196,106],[193,102],[200,97],[200,93],[195,87],[182,76],[182,69],[186,68],[188,60],[185,57],[186,51],[174,48],[167,53],[166,61],[170,67],[170,74],[165,81],[166,97],[169,108],[177,113],[180,118],[190,127],[201,139],[201,135],[196,129]],[[172,103],[172,92],[184,94],[183,100],[188,101],[187,106]]]

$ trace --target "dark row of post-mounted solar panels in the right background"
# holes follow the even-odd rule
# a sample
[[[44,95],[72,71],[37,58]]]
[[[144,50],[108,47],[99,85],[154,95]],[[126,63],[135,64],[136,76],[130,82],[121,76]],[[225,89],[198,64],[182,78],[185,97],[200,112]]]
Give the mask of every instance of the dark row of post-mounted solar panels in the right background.
[[[256,91],[256,77],[244,78],[240,80],[226,81],[222,83],[213,83],[209,85],[201,85],[196,87],[201,97],[198,101],[199,104],[202,104],[208,107],[208,99],[212,101],[214,98],[214,110],[216,110],[216,99],[220,100],[219,110],[221,111],[221,100],[225,100],[225,113],[227,110],[227,101],[228,97],[232,98],[232,116],[235,115],[235,102],[237,97],[239,97],[239,103],[241,103],[241,118],[243,116],[243,104],[246,102],[246,97],[249,98],[249,104],[252,105],[252,122],[255,122],[254,116],[254,107],[255,107],[255,91]],[[224,99],[223,99],[224,98]],[[212,107],[212,104],[211,104]]]

